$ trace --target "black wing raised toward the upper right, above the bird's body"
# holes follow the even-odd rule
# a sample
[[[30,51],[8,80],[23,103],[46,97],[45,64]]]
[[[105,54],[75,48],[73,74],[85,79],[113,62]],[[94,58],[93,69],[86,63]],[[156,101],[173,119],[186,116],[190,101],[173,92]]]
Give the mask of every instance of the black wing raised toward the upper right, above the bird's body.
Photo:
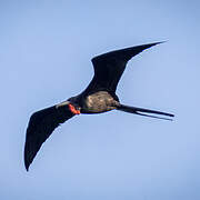
[[[94,57],[92,59],[94,76],[84,92],[89,93],[99,90],[116,92],[118,82],[126,69],[127,62],[144,49],[159,43],[161,42],[131,47]]]

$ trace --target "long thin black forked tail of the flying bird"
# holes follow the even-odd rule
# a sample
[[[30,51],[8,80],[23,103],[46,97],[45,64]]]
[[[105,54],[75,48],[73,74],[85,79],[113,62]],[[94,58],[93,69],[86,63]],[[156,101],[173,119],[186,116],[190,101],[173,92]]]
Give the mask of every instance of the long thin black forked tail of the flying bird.
[[[174,117],[174,114],[171,114],[171,113],[156,111],[156,110],[149,110],[149,109],[143,109],[143,108],[137,108],[137,107],[129,107],[126,104],[120,104],[117,108],[117,110],[121,110],[121,111],[130,112],[130,113],[134,113],[134,114],[140,114],[140,116],[144,116],[144,117],[150,117],[150,118],[171,120],[171,121],[172,121],[171,118]],[[147,114],[147,113],[151,113],[151,114]],[[167,116],[167,117],[171,117],[171,118],[164,118],[164,117],[159,117],[159,116]]]

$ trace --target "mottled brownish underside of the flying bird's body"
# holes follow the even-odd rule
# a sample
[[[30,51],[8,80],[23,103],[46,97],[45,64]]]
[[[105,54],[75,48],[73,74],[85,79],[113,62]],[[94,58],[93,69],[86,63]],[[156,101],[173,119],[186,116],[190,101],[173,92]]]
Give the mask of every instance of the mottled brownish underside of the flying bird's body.
[[[116,109],[117,102],[107,91],[99,91],[86,98],[82,113],[100,113]]]

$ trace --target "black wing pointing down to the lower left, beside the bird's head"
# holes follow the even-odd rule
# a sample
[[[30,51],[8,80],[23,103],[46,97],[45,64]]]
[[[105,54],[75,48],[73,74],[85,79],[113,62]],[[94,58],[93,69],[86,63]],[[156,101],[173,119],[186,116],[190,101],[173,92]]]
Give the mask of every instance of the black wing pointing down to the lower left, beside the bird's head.
[[[34,112],[27,128],[26,146],[24,146],[24,166],[29,170],[29,166],[34,159],[42,143],[49,138],[53,130],[60,124],[72,118],[74,114],[69,110],[68,106],[50,107]]]

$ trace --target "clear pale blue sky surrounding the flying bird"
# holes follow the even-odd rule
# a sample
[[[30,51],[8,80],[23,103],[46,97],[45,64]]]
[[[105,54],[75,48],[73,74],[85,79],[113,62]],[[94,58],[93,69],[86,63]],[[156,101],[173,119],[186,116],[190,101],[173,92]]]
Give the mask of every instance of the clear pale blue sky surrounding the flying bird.
[[[199,200],[198,0],[0,1],[0,199]],[[81,92],[97,54],[168,42],[134,57],[121,102],[173,122],[111,111],[58,128],[27,172],[32,112]]]

